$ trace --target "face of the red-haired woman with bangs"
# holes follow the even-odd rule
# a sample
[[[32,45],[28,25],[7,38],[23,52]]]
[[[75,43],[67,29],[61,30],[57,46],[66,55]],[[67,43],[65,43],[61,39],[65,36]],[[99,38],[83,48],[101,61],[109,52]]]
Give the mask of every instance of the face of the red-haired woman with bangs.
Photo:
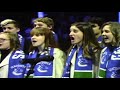
[[[34,47],[42,46],[45,43],[45,35],[33,35],[31,42]]]

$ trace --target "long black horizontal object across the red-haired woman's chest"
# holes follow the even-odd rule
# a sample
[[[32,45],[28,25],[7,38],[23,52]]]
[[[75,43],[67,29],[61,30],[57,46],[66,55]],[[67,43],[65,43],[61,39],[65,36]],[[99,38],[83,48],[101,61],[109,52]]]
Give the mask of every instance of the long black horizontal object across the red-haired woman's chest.
[[[45,57],[42,57],[42,58],[22,59],[20,61],[20,63],[21,64],[26,64],[26,63],[37,64],[40,61],[50,62],[50,61],[53,61],[53,59],[54,59],[53,56],[48,55],[48,56],[45,56]]]

